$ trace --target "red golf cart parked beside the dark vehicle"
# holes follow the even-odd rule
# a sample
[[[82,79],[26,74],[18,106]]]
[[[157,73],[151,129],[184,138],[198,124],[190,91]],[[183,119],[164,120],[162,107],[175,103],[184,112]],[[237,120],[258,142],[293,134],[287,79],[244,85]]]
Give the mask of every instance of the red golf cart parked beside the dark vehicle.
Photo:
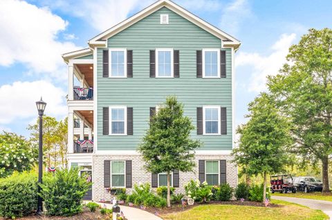
[[[281,192],[281,193],[287,193],[289,191],[295,193],[296,188],[293,184],[293,178],[291,174],[281,174],[281,175],[275,175],[270,177],[270,183],[271,183],[271,192]]]

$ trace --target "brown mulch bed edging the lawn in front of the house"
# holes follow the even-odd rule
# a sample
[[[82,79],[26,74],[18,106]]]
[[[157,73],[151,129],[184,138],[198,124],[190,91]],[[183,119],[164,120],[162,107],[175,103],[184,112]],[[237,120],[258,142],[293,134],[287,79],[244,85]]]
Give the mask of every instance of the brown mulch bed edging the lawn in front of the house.
[[[107,202],[108,203],[108,202]],[[152,214],[156,215],[163,215],[163,214],[169,214],[174,212],[183,212],[185,210],[190,210],[191,208],[194,208],[196,206],[207,206],[207,205],[236,205],[236,206],[255,206],[255,207],[265,207],[264,203],[260,203],[257,201],[210,201],[209,203],[198,203],[195,202],[192,206],[186,206],[185,208],[182,208],[181,204],[175,204],[172,205],[171,208],[152,208],[148,207],[145,208],[145,211],[151,212]],[[121,205],[121,206],[128,206],[127,204]],[[139,206],[130,206],[132,208],[138,208],[141,209]],[[270,208],[279,208],[282,207],[282,205],[277,205],[270,203]]]

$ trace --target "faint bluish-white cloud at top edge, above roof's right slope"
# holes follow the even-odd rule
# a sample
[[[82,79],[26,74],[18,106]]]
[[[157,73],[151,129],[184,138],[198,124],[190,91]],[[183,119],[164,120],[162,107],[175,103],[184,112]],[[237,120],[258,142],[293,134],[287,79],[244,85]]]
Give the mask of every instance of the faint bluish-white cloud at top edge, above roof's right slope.
[[[225,6],[222,12],[221,30],[237,34],[241,23],[250,17],[252,17],[252,11],[248,0],[234,0]]]

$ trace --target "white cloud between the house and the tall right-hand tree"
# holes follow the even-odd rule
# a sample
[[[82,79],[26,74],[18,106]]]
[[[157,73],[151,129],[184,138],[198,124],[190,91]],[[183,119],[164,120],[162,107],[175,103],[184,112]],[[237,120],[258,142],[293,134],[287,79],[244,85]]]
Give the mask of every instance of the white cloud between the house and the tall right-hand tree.
[[[266,76],[275,75],[286,62],[288,48],[294,43],[296,34],[282,34],[277,42],[271,46],[272,52],[267,56],[255,52],[239,52],[236,66],[252,66],[248,90],[261,92],[266,89]]]

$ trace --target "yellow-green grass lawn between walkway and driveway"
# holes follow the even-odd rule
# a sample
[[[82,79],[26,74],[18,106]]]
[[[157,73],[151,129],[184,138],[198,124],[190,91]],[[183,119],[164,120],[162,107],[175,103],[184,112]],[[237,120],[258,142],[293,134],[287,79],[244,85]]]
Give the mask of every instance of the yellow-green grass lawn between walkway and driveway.
[[[312,210],[295,203],[273,200],[281,205],[275,208],[235,205],[196,206],[184,212],[163,215],[165,220],[219,220],[219,219],[255,219],[255,220],[323,220],[329,217],[320,210]]]

